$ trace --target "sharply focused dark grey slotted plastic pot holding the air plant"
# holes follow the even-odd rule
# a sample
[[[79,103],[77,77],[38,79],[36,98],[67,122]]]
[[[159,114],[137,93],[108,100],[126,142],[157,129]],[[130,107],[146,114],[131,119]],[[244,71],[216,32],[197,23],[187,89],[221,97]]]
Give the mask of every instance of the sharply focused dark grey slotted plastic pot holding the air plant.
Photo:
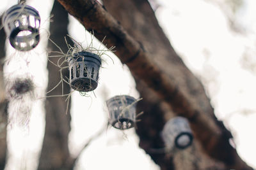
[[[69,59],[70,87],[79,92],[97,88],[101,59],[95,53],[77,52]]]

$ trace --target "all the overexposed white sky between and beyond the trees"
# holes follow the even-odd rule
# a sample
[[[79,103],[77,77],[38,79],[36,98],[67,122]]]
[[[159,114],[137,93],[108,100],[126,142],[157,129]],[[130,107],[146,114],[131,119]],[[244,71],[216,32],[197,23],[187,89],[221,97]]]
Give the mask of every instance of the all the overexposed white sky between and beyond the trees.
[[[253,130],[256,129],[254,123],[256,121],[254,104],[256,69],[254,72],[248,69],[248,65],[256,66],[256,4],[253,0],[244,0],[243,8],[237,12],[236,22],[250,32],[237,34],[230,31],[223,11],[215,3],[208,2],[159,0],[161,6],[157,9],[156,15],[175,50],[193,73],[203,81],[216,115],[225,122],[235,137],[234,141],[239,155],[250,166],[256,167],[253,154],[256,152],[256,137],[252,135]],[[1,3],[0,10],[3,11],[17,1],[4,0]],[[40,12],[41,37],[42,41],[46,41],[51,0],[31,0],[28,4]],[[86,45],[83,27],[73,18],[70,19],[71,36],[77,41],[84,41]],[[87,35],[87,38],[90,36]],[[9,46],[10,57],[8,59],[13,62],[10,62],[5,71],[6,74],[15,72],[17,60],[19,60],[19,67],[22,67],[26,74],[33,73],[29,76],[33,76],[38,89],[44,90],[47,85],[46,57],[45,48],[40,46],[44,46],[44,43],[41,42],[35,51],[26,53],[22,57]],[[73,96],[70,150],[74,155],[79,152],[90,136],[106,124],[107,108],[104,103],[106,99],[120,94],[139,97],[127,67],[122,66],[114,55],[111,55],[111,58],[115,64],[109,57],[104,57],[106,62],[103,63],[104,68],[100,71],[99,87],[95,90],[97,97],[93,94],[91,94],[92,97],[81,97],[78,93]],[[28,61],[29,66],[26,65]],[[36,66],[38,61],[42,64],[40,67]],[[102,93],[105,95],[102,96]],[[42,96],[43,94],[36,95]],[[8,168],[5,170],[17,169],[20,166],[35,169],[37,159],[35,155],[42,145],[44,132],[44,110],[39,108],[42,107],[42,102],[42,100],[36,101],[32,108],[28,131],[12,128],[8,136],[9,149],[12,154],[8,161]],[[250,114],[245,115],[244,110],[248,110]],[[144,151],[138,148],[138,137],[134,134],[134,129],[125,134],[127,136],[116,129],[108,129],[84,151],[80,159],[83,161],[79,161],[77,169],[102,169],[102,167],[104,169],[120,169],[120,167],[122,169],[157,169],[157,166],[150,162],[150,158],[145,156]],[[24,159],[33,161],[24,161]]]

